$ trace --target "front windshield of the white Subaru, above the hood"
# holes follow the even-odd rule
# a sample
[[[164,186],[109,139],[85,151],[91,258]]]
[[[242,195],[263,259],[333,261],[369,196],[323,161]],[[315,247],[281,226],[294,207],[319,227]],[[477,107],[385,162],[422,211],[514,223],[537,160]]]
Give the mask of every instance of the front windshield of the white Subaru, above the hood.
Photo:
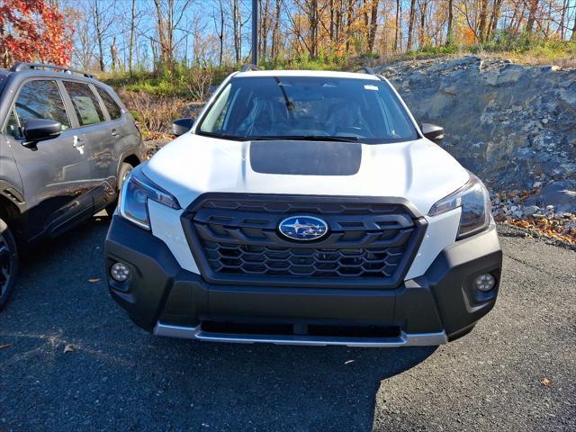
[[[226,139],[366,143],[418,138],[387,83],[317,76],[232,78],[204,116],[198,132]]]

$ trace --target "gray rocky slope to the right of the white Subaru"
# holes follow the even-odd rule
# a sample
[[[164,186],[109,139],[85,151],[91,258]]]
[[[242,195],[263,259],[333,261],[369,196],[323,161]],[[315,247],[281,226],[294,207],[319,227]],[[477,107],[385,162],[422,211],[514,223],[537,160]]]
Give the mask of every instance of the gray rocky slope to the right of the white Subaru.
[[[576,211],[576,70],[477,57],[375,69],[493,191],[534,191],[524,203]]]

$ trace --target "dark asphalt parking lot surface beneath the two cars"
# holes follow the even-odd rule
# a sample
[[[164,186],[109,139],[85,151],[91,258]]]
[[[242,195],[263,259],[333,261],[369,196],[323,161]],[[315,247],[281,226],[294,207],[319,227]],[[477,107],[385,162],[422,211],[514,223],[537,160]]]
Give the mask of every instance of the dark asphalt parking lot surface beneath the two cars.
[[[443,347],[193,343],[112,302],[108,221],[23,263],[0,313],[0,431],[576,430],[573,250],[503,229],[499,302]]]

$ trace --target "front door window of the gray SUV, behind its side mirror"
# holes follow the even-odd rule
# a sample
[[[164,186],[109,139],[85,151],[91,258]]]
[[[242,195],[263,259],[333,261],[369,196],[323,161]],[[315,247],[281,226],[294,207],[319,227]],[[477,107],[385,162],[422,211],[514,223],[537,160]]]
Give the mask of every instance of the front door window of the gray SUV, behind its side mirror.
[[[34,80],[24,84],[15,107],[23,125],[31,119],[49,119],[59,121],[62,130],[70,128],[70,119],[56,81]]]

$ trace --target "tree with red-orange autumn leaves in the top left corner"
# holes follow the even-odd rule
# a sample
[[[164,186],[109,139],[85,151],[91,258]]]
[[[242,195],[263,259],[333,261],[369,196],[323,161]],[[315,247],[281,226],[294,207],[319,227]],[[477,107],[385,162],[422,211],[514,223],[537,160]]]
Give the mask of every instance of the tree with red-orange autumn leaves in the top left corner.
[[[68,65],[72,28],[46,0],[0,0],[0,66],[16,61]]]

